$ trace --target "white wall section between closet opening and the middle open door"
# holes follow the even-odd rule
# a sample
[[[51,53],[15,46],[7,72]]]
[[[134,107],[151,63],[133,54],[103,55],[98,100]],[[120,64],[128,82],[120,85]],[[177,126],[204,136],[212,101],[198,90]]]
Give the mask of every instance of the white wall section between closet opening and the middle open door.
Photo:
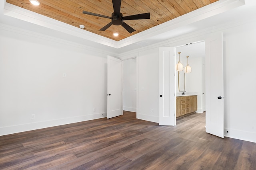
[[[140,51],[137,118],[159,122],[159,49]]]

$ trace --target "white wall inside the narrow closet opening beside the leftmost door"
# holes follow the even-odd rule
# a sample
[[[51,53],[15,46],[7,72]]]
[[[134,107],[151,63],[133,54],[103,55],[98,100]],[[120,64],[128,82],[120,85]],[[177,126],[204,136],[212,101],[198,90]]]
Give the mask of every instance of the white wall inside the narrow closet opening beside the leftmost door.
[[[122,61],[123,109],[136,112],[136,84],[137,84],[136,58]]]

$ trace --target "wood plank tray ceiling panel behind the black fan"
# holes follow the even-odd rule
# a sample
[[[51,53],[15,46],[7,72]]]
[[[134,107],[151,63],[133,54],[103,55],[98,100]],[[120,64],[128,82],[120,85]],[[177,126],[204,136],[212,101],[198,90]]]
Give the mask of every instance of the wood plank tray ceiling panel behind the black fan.
[[[83,14],[84,11],[110,16],[113,12],[112,0],[38,0],[39,6],[34,6],[29,0],[6,0],[6,2],[42,14],[58,21],[79,27],[84,30],[119,41],[151,27],[202,8],[218,0],[122,0],[123,16],[150,12],[150,19],[126,20],[136,31],[129,33],[121,25],[111,25],[106,31],[99,31],[110,23],[111,19]],[[114,37],[113,33],[119,33]]]

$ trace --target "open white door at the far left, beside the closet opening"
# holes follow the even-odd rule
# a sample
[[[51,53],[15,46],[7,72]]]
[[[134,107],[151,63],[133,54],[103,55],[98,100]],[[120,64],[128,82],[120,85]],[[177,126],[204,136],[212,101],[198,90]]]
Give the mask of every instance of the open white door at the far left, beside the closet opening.
[[[107,95],[108,119],[122,115],[122,60],[111,56],[108,56]]]

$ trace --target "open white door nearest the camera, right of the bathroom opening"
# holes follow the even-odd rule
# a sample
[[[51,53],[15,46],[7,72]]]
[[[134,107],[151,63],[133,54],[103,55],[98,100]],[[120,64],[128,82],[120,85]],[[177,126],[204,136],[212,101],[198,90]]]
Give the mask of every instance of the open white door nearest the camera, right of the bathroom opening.
[[[206,132],[224,138],[224,90],[222,33],[205,41]]]

